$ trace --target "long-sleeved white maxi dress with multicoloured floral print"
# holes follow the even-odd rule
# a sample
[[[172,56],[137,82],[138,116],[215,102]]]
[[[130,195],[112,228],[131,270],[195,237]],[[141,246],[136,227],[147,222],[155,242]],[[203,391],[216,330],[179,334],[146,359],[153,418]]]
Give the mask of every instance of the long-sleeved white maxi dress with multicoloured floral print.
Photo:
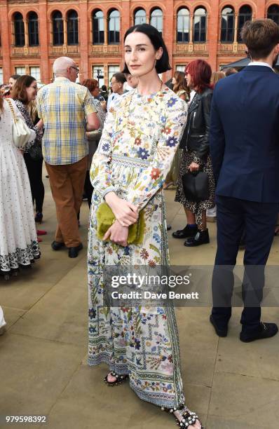
[[[182,137],[186,102],[170,89],[126,93],[109,109],[90,170],[94,187],[88,240],[89,365],[129,374],[142,399],[165,407],[184,404],[174,309],[103,306],[104,266],[168,266],[163,182]],[[96,235],[96,211],[115,191],[141,210],[142,245],[121,247]]]

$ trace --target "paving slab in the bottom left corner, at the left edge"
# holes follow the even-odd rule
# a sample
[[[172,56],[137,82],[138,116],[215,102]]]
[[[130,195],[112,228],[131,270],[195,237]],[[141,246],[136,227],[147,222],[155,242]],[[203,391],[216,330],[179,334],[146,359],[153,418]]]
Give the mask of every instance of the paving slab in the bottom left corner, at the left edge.
[[[84,352],[72,344],[11,332],[1,336],[0,414],[48,414]]]

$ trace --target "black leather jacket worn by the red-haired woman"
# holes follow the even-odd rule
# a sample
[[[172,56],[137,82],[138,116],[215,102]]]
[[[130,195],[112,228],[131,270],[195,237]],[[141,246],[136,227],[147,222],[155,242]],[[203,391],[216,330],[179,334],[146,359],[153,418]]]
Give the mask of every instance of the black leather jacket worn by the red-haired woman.
[[[180,148],[195,151],[201,161],[209,154],[210,108],[213,90],[205,88],[203,93],[193,97],[189,104],[186,128]]]

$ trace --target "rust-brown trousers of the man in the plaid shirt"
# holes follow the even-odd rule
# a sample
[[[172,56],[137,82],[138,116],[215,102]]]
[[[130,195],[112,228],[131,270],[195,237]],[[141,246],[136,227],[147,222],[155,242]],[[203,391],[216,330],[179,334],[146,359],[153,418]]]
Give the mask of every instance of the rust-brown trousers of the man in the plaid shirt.
[[[55,241],[64,243],[67,247],[75,247],[81,243],[76,214],[79,213],[82,203],[87,163],[87,156],[74,164],[46,163],[58,222]]]

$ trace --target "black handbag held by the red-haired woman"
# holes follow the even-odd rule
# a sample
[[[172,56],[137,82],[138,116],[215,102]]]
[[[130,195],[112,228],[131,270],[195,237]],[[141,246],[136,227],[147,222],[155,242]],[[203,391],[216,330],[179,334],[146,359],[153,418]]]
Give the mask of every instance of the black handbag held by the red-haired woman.
[[[186,200],[199,201],[209,198],[209,179],[203,171],[186,172],[182,176],[183,190]]]

